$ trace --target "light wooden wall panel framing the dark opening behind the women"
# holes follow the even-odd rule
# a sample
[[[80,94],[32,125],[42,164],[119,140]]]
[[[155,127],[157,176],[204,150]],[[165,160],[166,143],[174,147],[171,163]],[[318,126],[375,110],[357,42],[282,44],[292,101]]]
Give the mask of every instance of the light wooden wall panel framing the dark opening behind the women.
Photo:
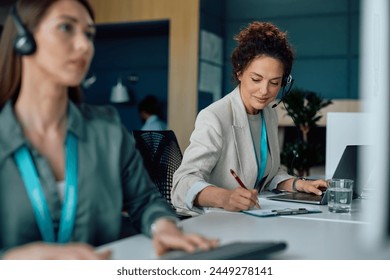
[[[96,23],[168,19],[168,125],[188,146],[198,107],[200,0],[90,0]]]

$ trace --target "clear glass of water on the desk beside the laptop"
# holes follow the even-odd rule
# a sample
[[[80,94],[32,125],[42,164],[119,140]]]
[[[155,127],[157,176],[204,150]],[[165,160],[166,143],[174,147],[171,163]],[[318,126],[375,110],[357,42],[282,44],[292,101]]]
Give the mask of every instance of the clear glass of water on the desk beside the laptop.
[[[328,209],[333,213],[349,213],[352,205],[353,180],[331,179],[328,181]]]

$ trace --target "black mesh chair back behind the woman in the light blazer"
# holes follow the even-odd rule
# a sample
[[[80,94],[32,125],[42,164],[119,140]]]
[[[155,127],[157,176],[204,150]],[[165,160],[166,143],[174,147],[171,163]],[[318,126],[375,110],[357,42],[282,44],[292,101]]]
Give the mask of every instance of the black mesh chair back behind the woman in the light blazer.
[[[172,130],[134,130],[133,135],[152,181],[172,206],[172,177],[183,158],[175,133]]]

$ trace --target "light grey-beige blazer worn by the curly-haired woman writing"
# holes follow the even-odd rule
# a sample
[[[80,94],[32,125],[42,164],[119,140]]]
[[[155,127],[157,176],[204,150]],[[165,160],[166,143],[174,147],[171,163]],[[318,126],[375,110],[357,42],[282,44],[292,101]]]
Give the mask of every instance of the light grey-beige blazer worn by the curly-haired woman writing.
[[[276,188],[278,183],[291,178],[280,167],[276,111],[266,107],[263,116],[270,154],[267,162],[271,168],[265,174],[260,190],[264,187]],[[193,201],[206,186],[236,188],[238,184],[230,169],[236,171],[248,188],[255,187],[258,172],[256,155],[239,87],[198,114],[190,145],[173,176],[173,205],[179,211],[196,210]]]

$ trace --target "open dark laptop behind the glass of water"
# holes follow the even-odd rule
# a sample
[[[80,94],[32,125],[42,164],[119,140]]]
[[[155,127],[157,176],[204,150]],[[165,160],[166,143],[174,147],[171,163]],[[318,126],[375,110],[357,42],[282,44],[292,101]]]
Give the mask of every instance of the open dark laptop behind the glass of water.
[[[361,196],[361,186],[358,181],[358,157],[361,154],[362,149],[367,149],[365,145],[348,145],[345,147],[344,152],[341,156],[339,164],[333,174],[332,179],[343,178],[354,180],[353,184],[353,199]],[[276,196],[269,196],[268,199],[277,201],[288,201],[288,202],[299,202],[309,204],[328,204],[328,196],[326,191],[322,192],[322,195],[315,195],[310,193],[287,193]]]

